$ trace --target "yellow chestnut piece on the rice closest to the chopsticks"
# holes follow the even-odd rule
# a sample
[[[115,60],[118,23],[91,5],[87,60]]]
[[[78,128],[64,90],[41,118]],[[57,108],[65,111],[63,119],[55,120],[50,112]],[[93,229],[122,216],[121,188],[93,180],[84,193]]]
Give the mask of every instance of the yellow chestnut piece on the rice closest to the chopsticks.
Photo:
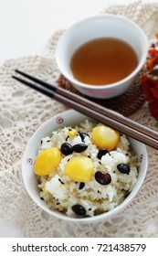
[[[120,141],[120,133],[109,126],[95,126],[91,133],[91,139],[99,148],[106,148],[108,151],[114,149]]]

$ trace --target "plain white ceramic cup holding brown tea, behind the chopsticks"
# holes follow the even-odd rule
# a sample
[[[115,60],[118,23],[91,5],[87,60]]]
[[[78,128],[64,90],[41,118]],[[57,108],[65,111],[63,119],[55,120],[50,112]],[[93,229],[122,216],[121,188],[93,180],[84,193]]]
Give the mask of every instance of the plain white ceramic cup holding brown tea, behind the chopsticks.
[[[99,37],[114,37],[130,44],[135,50],[138,65],[123,80],[109,85],[90,85],[76,80],[69,67],[70,59],[79,46]],[[81,93],[94,98],[108,99],[121,95],[136,80],[147,57],[148,42],[142,29],[131,20],[115,15],[92,16],[69,27],[59,38],[56,59],[60,72]]]

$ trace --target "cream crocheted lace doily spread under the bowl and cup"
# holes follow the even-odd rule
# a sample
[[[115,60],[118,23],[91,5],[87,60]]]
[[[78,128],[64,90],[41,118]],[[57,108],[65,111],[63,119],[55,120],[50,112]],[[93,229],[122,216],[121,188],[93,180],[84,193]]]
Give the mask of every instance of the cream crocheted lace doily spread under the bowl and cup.
[[[148,38],[158,24],[158,5],[136,1],[114,5],[102,13],[119,14],[135,21]],[[93,225],[73,225],[44,213],[27,195],[21,176],[26,144],[37,127],[58,112],[63,104],[48,99],[11,78],[14,69],[32,73],[43,80],[57,80],[55,48],[62,31],[50,38],[44,56],[10,59],[0,68],[0,216],[24,237],[157,237],[158,236],[158,151],[147,147],[149,168],[138,196],[113,219]],[[147,104],[131,118],[154,128]]]

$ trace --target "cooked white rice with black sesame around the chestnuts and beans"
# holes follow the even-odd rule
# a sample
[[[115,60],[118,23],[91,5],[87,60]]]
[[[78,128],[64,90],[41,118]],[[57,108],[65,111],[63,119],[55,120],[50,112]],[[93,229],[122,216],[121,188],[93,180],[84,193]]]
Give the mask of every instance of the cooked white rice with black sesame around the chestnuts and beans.
[[[79,133],[88,133],[84,143],[88,148],[82,153],[62,155],[62,159],[56,172],[48,176],[39,177],[40,197],[47,203],[48,208],[57,209],[70,217],[79,217],[72,210],[72,206],[81,205],[86,210],[86,217],[98,215],[115,208],[125,197],[129,195],[138,177],[138,157],[132,154],[129,141],[124,134],[120,135],[120,142],[115,150],[98,159],[99,149],[91,141],[91,131],[96,123],[86,120],[76,127],[64,127],[52,132],[50,137],[42,138],[39,152],[50,147],[58,147],[67,142],[68,144],[82,143]],[[76,136],[68,136],[68,129],[75,128]],[[68,159],[74,155],[89,156],[93,163],[94,174],[97,171],[109,173],[111,183],[106,186],[100,185],[93,175],[85,186],[79,189],[80,183],[71,180],[65,174],[65,165]],[[119,164],[130,165],[130,174],[122,174],[118,171]]]

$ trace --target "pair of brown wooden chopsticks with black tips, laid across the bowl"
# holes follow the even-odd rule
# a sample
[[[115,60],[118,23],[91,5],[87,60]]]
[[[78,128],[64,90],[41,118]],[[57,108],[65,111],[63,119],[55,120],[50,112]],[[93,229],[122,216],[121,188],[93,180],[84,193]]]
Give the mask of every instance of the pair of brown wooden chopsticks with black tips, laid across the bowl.
[[[144,144],[148,144],[153,148],[158,149],[158,133],[153,130],[133,122],[118,112],[111,111],[70,91],[58,88],[55,85],[39,80],[20,70],[16,69],[15,71],[27,80],[18,76],[12,76],[13,79],[26,84],[36,91],[40,91],[50,98],[65,103],[69,107],[90,116],[90,118],[95,119],[100,123],[109,125],[121,133],[125,133]],[[32,83],[29,80],[34,81],[35,83]]]

